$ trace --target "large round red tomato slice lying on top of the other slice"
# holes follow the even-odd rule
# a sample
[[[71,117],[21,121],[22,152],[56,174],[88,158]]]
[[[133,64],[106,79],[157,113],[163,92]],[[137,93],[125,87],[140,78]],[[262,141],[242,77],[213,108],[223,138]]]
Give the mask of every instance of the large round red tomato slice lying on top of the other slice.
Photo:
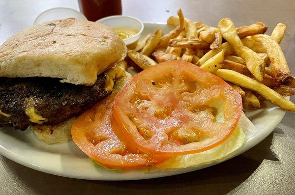
[[[148,68],[118,92],[114,116],[143,152],[177,156],[213,148],[233,133],[241,96],[219,77],[184,61]]]

